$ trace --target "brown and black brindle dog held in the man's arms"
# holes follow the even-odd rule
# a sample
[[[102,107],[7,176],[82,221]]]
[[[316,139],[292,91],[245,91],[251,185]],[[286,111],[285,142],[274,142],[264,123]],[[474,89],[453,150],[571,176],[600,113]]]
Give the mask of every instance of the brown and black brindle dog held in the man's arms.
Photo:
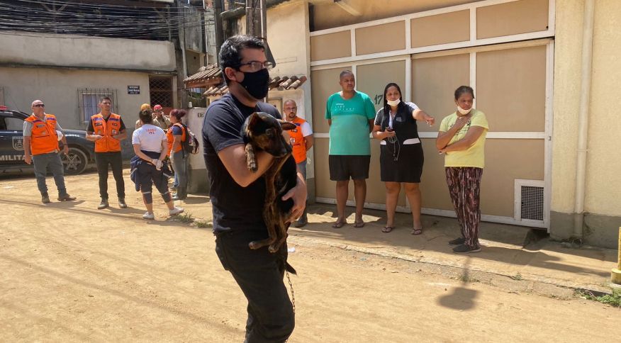
[[[291,145],[282,135],[283,130],[296,128],[293,123],[278,120],[264,112],[252,113],[242,126],[242,135],[246,143],[247,167],[257,171],[255,154],[261,150],[272,154],[274,162],[265,171],[265,205],[263,220],[267,225],[269,237],[248,244],[250,249],[259,249],[269,245],[269,252],[277,252],[286,242],[289,218],[293,200],[282,201],[281,198],[296,186],[296,161],[291,156]]]

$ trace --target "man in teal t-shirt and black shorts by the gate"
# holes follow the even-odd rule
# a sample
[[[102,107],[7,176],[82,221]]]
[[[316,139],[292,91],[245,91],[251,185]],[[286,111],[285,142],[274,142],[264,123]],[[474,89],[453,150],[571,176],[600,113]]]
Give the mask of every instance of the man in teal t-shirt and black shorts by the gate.
[[[337,221],[332,224],[340,228],[347,224],[345,203],[347,203],[349,178],[354,180],[356,219],[354,227],[363,227],[362,207],[367,198],[367,179],[371,161],[369,133],[373,128],[375,107],[367,94],[356,91],[354,73],[344,70],[339,75],[342,91],[332,94],[325,106],[325,118],[330,125],[330,180],[336,181]]]

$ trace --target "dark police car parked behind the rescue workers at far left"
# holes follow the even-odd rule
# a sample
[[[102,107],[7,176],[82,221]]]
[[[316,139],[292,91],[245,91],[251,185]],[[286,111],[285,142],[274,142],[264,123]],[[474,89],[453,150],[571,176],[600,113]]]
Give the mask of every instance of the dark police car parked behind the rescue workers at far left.
[[[33,168],[32,164],[23,161],[23,121],[28,116],[0,106],[0,173]],[[61,154],[65,174],[80,174],[94,160],[95,143],[86,140],[86,131],[63,129],[63,134],[69,145],[69,154]]]

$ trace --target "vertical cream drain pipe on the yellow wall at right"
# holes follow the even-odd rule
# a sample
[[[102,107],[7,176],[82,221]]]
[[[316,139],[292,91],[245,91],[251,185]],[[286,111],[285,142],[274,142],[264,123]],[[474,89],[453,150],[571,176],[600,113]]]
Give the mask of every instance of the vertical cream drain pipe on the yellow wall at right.
[[[573,238],[582,241],[584,235],[584,192],[586,184],[586,153],[588,152],[588,114],[591,104],[591,75],[593,69],[593,17],[595,0],[584,1],[582,34],[582,66],[580,112],[578,112],[578,151],[576,161],[576,201]]]

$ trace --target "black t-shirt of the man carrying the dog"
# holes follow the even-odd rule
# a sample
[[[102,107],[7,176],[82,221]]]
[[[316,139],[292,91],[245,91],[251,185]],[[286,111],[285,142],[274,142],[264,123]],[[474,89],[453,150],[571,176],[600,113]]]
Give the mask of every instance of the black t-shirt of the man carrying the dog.
[[[281,119],[280,113],[269,103],[248,107],[231,94],[211,103],[203,118],[203,156],[209,172],[213,231],[267,230],[263,221],[265,181],[259,177],[242,187],[230,176],[218,152],[231,145],[244,144],[242,125],[253,112],[269,113]]]

